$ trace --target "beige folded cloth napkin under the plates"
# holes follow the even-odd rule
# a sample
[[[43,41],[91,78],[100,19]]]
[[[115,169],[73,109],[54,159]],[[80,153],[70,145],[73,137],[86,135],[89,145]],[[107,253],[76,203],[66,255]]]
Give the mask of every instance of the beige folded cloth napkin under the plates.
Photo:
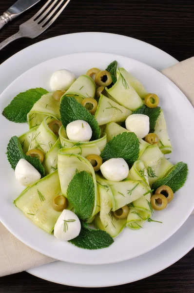
[[[194,57],[161,71],[174,82],[194,106]],[[53,262],[15,238],[0,224],[0,276],[22,272]]]

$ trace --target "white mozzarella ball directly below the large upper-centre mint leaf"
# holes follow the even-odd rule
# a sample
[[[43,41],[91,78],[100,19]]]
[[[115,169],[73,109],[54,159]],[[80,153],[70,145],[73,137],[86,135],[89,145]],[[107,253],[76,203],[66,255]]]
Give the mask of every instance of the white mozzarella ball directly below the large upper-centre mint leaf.
[[[77,142],[89,142],[92,137],[92,128],[84,120],[70,122],[66,127],[69,140]]]

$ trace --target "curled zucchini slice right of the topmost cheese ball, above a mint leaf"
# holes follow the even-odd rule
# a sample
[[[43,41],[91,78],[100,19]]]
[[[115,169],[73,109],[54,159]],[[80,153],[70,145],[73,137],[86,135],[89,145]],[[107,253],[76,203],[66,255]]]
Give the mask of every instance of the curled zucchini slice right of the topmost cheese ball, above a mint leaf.
[[[94,98],[95,92],[96,84],[93,79],[88,75],[81,75],[61,98],[63,99],[65,96],[74,96],[76,100],[81,103],[85,98]]]

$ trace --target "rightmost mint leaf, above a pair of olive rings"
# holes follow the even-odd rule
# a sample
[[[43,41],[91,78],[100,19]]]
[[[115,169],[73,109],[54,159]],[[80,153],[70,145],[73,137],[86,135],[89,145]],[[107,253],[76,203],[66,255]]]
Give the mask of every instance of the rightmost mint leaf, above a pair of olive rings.
[[[155,181],[152,188],[156,190],[162,185],[169,186],[173,192],[181,188],[187,179],[188,166],[183,162],[179,162],[171,169],[171,171],[162,179]]]

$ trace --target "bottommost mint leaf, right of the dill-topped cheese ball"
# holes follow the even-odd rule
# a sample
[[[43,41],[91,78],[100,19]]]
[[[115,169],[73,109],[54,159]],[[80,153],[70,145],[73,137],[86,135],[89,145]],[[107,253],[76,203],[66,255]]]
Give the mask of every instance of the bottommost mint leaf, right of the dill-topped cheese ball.
[[[114,240],[107,232],[90,229],[86,223],[82,222],[79,235],[69,242],[83,249],[94,250],[109,247]]]

